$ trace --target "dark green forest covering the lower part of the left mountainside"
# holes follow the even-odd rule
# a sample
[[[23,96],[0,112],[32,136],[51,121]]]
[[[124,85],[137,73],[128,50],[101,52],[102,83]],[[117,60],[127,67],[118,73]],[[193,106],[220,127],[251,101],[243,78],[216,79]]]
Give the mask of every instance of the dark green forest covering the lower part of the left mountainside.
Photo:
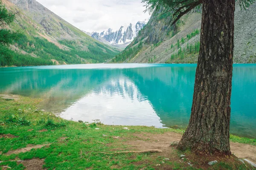
[[[19,51],[8,51],[9,57],[0,57],[0,66],[29,66],[29,65],[53,65],[50,59],[56,59],[59,63],[84,64],[101,63],[111,59],[118,51],[111,51],[104,45],[96,42],[96,46],[89,45],[88,51],[81,48],[83,41],[61,40],[61,44],[69,49],[60,49],[58,46],[41,37],[31,37],[30,39],[22,34],[14,43],[19,49],[29,54],[35,54],[32,57],[29,54],[21,54]]]

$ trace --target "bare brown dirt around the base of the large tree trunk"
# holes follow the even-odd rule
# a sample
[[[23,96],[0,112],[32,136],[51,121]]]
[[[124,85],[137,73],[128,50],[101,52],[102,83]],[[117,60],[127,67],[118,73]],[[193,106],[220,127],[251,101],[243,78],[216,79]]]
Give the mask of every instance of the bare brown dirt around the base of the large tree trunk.
[[[139,133],[134,134],[131,140],[125,139],[122,142],[127,146],[126,150],[149,150],[149,149],[159,149],[162,153],[157,153],[157,156],[163,156],[171,159],[172,161],[182,161],[180,160],[177,152],[175,151],[175,146],[170,147],[171,142],[179,142],[182,135],[179,133],[168,132],[161,134],[152,133]],[[120,141],[121,142],[121,141]],[[231,152],[242,159],[249,159],[250,161],[256,162],[256,146],[250,144],[240,144],[240,143],[230,143]],[[129,149],[128,149],[129,148]],[[114,150],[113,150],[114,151]],[[190,160],[197,160],[200,163],[198,167],[209,167],[208,161],[220,160],[220,161],[237,161],[234,156],[228,158],[223,158],[221,156],[215,156],[212,158],[210,155],[198,158],[198,156],[193,156],[191,154]],[[212,160],[211,160],[212,159]],[[213,160],[214,159],[214,160]],[[227,160],[224,160],[227,159]],[[239,164],[240,162],[237,162]],[[198,164],[199,165],[199,164]]]

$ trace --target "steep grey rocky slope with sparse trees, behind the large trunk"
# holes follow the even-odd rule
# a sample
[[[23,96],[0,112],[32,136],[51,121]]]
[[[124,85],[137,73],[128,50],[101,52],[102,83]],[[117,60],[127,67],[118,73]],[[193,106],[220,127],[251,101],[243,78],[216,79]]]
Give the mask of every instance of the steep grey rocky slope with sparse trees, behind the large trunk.
[[[172,15],[155,11],[138,36],[111,62],[196,63],[200,45],[201,13],[183,16],[170,26]],[[236,4],[234,62],[256,62],[256,3],[246,10]]]

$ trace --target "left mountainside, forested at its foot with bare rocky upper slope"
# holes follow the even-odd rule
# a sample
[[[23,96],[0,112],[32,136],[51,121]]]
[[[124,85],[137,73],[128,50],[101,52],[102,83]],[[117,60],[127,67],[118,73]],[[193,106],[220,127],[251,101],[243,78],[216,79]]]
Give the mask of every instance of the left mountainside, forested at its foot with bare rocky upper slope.
[[[103,44],[67,23],[35,0],[2,0],[17,13],[7,29],[22,36],[11,46],[11,62],[0,57],[0,66],[99,63],[119,49]]]

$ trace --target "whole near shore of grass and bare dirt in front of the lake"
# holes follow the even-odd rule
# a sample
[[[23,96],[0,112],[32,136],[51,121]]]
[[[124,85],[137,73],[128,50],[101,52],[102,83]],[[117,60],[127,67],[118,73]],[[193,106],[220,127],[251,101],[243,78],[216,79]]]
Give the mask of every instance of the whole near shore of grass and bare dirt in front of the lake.
[[[102,125],[63,120],[38,111],[41,99],[0,97],[0,170],[154,170],[253,169],[235,156],[197,156],[176,150],[184,130]],[[96,129],[99,128],[99,129]],[[170,139],[170,140],[169,140]],[[256,145],[256,139],[231,135],[231,142]],[[161,153],[114,153],[159,149]],[[110,154],[114,153],[114,154]],[[183,159],[181,154],[186,156]],[[168,160],[169,159],[169,160]],[[208,161],[218,160],[209,166]]]

